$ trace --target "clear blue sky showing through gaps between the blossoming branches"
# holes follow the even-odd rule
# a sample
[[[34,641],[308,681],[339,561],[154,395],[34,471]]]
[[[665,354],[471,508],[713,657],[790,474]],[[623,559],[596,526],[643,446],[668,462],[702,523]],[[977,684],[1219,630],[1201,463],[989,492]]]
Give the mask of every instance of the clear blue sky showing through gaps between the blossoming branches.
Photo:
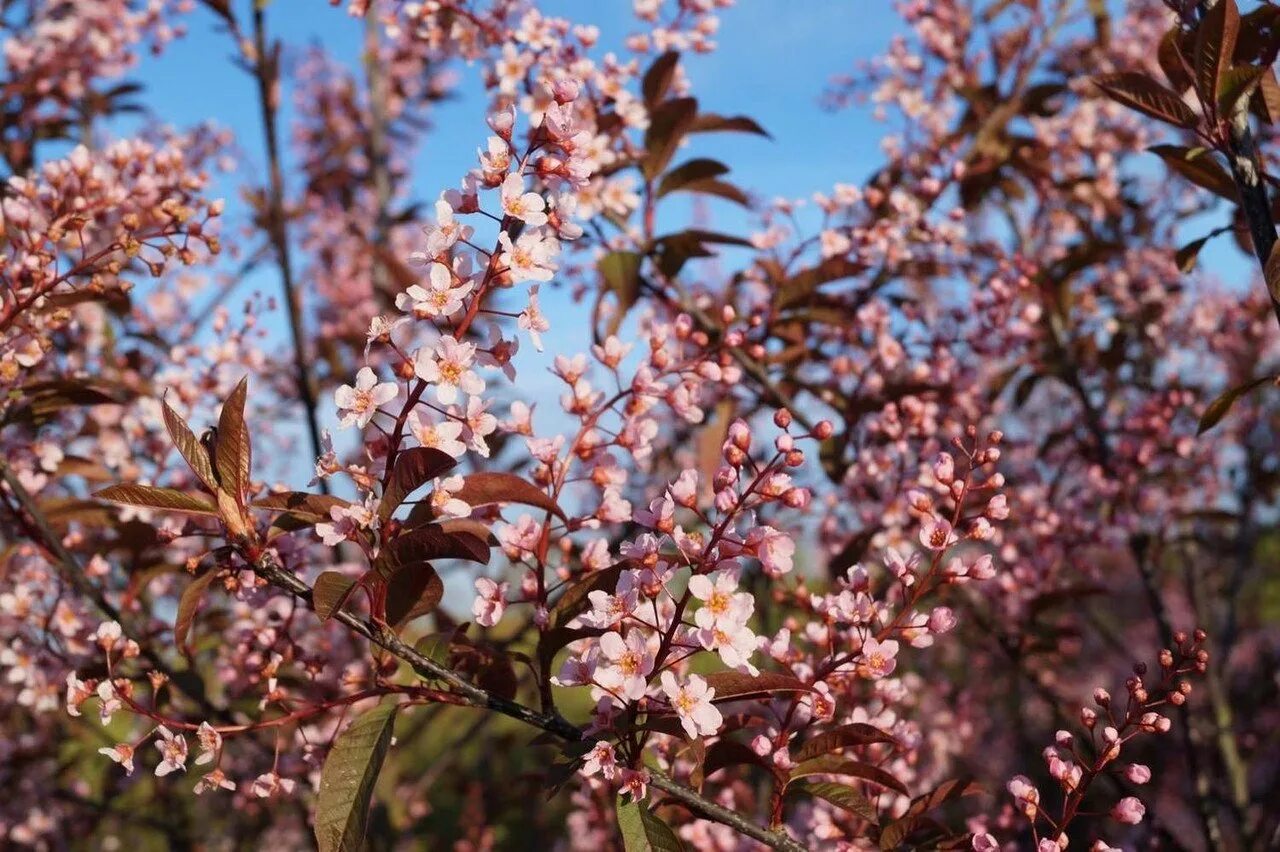
[[[244,6],[246,3],[237,4],[242,12]],[[547,14],[600,27],[602,54],[639,29],[628,0],[545,0],[540,8]],[[721,159],[733,169],[731,177],[744,189],[762,198],[805,197],[814,191],[828,191],[837,182],[860,182],[879,161],[878,142],[884,128],[869,120],[863,110],[832,113],[823,110],[818,100],[833,74],[847,72],[855,59],[881,54],[901,28],[901,20],[892,14],[888,0],[806,0],[803,14],[796,9],[797,4],[783,0],[742,0],[740,8],[722,14],[719,49],[709,55],[690,55],[686,63],[704,109],[751,115],[773,139],[712,134],[680,157]],[[152,118],[177,128],[214,122],[230,129],[243,175],[260,180],[265,169],[255,83],[232,63],[232,40],[218,29],[211,14],[197,9],[187,22],[189,33],[184,38],[157,58],[147,56],[136,69],[133,77],[146,87],[142,100]],[[273,0],[268,6],[268,28],[284,40],[287,67],[289,49],[297,56],[312,43],[358,65],[362,22],[349,18],[344,8],[330,8],[323,0]],[[458,63],[454,70],[460,83],[457,96],[436,107],[433,128],[415,159],[411,194],[417,198],[430,200],[456,185],[475,165],[475,151],[489,133],[484,124],[488,97],[479,67]],[[282,102],[282,138],[288,139],[292,91],[285,90]],[[128,118],[115,130],[129,132],[141,120]],[[287,150],[287,179],[291,159],[292,151]],[[242,179],[234,175],[215,187],[215,194],[227,198],[228,225],[243,220],[238,194]],[[745,233],[748,217],[742,210],[718,200],[709,205],[713,228]],[[675,230],[687,224],[690,201],[672,200],[667,209],[668,221],[659,221],[659,226]],[[229,226],[224,230],[228,242],[238,239]],[[303,266],[297,260],[294,265]],[[306,288],[305,280],[302,287]],[[278,294],[274,267],[259,270],[244,285],[244,292],[250,290]],[[543,302],[554,324],[548,353],[539,354],[526,345],[520,356],[521,393],[531,398],[550,394],[556,398],[562,390],[547,372],[550,352],[557,348],[577,352],[590,343],[582,334],[584,308],[571,304],[563,292],[545,290]],[[283,352],[288,342],[283,316],[264,320],[264,327],[273,333]],[[547,404],[541,411],[553,407]],[[325,422],[333,426],[332,407],[321,408]],[[308,471],[298,471],[298,476],[305,482]]]

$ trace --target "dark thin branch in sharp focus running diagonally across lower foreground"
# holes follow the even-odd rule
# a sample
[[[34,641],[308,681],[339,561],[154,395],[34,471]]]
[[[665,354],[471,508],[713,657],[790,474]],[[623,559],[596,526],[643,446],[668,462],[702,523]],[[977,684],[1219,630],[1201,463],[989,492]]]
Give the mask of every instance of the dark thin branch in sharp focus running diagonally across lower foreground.
[[[307,585],[297,576],[285,571],[284,567],[276,560],[273,551],[265,550],[252,564],[253,571],[269,583],[305,600],[308,605],[311,604],[311,588],[308,588]],[[466,698],[466,701],[474,707],[494,710],[506,716],[511,716],[512,719],[524,722],[527,725],[532,725],[534,728],[554,734],[566,742],[580,742],[585,737],[577,725],[572,724],[559,714],[539,713],[532,707],[526,707],[518,701],[503,698],[502,696],[493,695],[492,692],[477,687],[466,678],[458,675],[452,669],[443,667],[430,658],[420,654],[384,624],[376,624],[372,620],[360,618],[358,615],[353,615],[344,610],[334,613],[333,619],[340,622],[352,632],[364,636],[374,645],[399,658],[420,677],[443,681],[454,692]],[[746,837],[764,843],[772,849],[781,849],[782,852],[804,852],[805,847],[795,839],[782,833],[774,833],[760,828],[741,814],[736,814],[710,800],[704,798],[698,792],[685,787],[680,782],[658,771],[657,769],[649,769],[648,771],[650,775],[649,783],[653,787],[687,806],[691,811],[701,814],[707,819],[721,823],[722,825],[727,825]]]

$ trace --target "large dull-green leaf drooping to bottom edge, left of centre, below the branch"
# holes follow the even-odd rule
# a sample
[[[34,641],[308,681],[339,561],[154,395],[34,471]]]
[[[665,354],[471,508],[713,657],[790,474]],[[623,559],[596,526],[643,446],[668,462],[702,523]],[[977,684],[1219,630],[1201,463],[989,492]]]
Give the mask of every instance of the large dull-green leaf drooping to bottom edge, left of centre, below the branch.
[[[374,783],[392,743],[394,704],[357,716],[329,751],[320,773],[315,833],[320,852],[357,852],[365,840]]]

